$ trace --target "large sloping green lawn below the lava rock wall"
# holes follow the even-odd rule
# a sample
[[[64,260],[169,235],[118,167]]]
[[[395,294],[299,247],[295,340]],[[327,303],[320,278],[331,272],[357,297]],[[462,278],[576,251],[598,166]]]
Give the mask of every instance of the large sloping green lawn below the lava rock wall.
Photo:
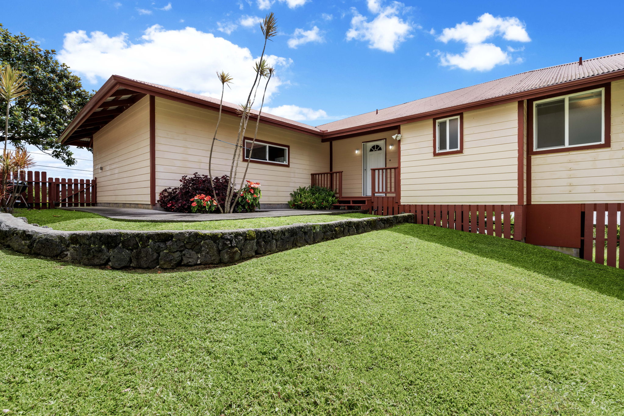
[[[0,252],[27,415],[622,415],[624,272],[405,224],[157,274]]]

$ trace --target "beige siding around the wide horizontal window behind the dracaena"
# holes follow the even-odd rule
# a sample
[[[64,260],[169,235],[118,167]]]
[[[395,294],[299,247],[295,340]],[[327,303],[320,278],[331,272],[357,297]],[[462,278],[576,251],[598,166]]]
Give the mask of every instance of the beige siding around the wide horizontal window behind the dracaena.
[[[156,98],[156,198],[163,188],[180,185],[182,175],[194,172],[208,175],[210,143],[218,113],[171,100]],[[238,117],[223,115],[218,138],[236,142]],[[247,127],[253,136],[255,123]],[[321,139],[284,128],[260,123],[258,139],[290,146],[290,167],[250,163],[246,178],[260,181],[262,203],[287,203],[290,193],[299,186],[310,185],[310,173],[329,170],[329,144]],[[215,142],[212,175],[230,173],[234,147]],[[245,163],[239,164],[237,186]]]

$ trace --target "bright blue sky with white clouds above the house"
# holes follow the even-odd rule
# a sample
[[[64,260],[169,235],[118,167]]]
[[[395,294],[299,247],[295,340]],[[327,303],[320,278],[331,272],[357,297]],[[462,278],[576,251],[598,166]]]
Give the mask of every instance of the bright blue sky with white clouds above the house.
[[[526,70],[624,52],[624,2],[57,0],[6,2],[1,22],[56,49],[97,89],[119,74],[240,102],[268,46],[271,112],[311,125]],[[605,14],[605,11],[608,11]],[[445,30],[446,29],[446,30]],[[88,157],[87,157],[88,158]],[[89,167],[90,168],[90,167]]]

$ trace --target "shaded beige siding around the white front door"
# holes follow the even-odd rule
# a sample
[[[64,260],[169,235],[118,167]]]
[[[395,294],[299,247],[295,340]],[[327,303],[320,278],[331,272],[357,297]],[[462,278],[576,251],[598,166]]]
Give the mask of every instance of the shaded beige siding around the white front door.
[[[343,171],[343,195],[361,196],[363,178],[363,142],[386,139],[386,167],[397,166],[397,142],[392,138],[397,133],[375,133],[358,137],[344,138],[334,141],[334,171]],[[392,149],[389,146],[392,145]],[[359,149],[359,153],[355,150]]]

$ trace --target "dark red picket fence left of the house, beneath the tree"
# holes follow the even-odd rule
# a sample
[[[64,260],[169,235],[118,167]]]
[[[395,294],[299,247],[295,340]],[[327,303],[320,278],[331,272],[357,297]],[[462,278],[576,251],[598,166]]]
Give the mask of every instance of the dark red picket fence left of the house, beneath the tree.
[[[95,179],[48,178],[47,172],[31,170],[14,173],[11,179],[27,185],[16,206],[45,210],[56,206],[92,206],[97,202]]]

